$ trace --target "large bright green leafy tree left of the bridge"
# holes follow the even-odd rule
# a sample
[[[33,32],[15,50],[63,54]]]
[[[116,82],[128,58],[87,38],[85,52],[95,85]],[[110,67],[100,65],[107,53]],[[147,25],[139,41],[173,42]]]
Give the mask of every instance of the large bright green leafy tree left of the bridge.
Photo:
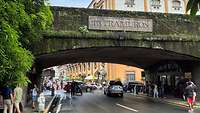
[[[47,0],[0,0],[0,85],[27,85],[29,50],[51,24]]]

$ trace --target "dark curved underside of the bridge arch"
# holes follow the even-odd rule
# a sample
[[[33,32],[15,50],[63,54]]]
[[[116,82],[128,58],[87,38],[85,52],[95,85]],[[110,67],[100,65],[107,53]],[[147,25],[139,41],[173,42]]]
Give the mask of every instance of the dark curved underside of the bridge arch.
[[[77,48],[36,56],[36,62],[42,69],[79,62],[118,63],[145,69],[163,61],[176,61],[189,65],[199,62],[200,59],[173,51],[140,47]]]

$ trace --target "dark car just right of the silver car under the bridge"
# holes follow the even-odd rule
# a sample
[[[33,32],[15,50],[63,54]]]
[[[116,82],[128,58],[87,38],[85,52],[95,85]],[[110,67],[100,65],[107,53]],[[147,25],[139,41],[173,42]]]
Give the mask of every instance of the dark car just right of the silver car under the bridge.
[[[144,84],[140,81],[133,81],[133,82],[128,82],[124,85],[123,90],[124,92],[133,92],[134,87],[136,87],[136,93],[138,94],[139,92],[143,91]]]

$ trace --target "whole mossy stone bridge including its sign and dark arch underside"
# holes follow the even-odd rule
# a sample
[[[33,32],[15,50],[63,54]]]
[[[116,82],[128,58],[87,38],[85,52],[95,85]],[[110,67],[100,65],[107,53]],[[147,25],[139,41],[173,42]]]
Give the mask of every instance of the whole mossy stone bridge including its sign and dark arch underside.
[[[110,62],[143,68],[149,78],[166,70],[191,72],[200,85],[199,16],[64,7],[52,11],[52,30],[34,45],[36,75],[66,63]]]

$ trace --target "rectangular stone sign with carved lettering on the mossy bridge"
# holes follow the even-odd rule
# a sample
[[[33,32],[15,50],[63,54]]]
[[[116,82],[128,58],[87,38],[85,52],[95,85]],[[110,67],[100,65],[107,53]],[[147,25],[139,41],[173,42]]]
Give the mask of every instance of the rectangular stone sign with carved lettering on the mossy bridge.
[[[152,19],[89,16],[89,29],[118,31],[153,31]]]

